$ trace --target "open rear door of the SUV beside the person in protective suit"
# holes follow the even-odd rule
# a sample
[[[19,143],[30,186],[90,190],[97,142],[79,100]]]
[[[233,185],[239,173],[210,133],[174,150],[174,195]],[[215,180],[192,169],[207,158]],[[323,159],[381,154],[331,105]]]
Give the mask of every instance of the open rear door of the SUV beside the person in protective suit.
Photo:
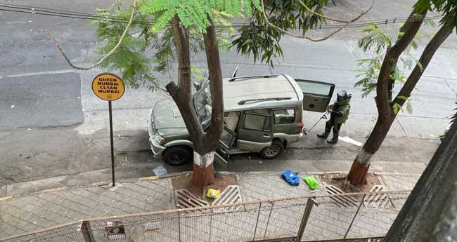
[[[326,112],[335,84],[295,79],[303,92],[303,110]]]

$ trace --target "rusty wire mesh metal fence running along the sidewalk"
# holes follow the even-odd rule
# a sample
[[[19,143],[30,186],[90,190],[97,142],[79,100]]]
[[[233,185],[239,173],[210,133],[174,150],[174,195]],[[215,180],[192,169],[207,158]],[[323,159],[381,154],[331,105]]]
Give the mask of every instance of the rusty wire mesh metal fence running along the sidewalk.
[[[2,242],[325,241],[385,236],[409,191],[302,196],[74,222]]]

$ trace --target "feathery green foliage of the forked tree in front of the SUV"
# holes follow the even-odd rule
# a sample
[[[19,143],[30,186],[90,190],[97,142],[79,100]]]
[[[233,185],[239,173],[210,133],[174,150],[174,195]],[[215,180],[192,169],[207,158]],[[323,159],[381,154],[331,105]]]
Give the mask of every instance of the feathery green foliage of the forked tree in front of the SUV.
[[[122,8],[124,0],[118,0],[110,8],[99,9],[94,20],[98,41],[104,43],[98,48],[99,55],[106,55],[122,36],[131,13],[129,8]],[[153,89],[162,89],[157,84],[159,78],[172,81],[171,70],[176,62],[176,50],[173,44],[172,18],[179,17],[180,24],[188,29],[191,41],[191,53],[204,51],[203,34],[210,22],[217,29],[219,47],[230,48],[230,39],[235,32],[231,26],[234,16],[250,16],[252,11],[259,11],[259,0],[143,0],[137,4],[129,32],[122,39],[122,45],[101,63],[103,69],[117,70],[122,80],[131,87],[146,84]],[[150,58],[148,53],[152,53]],[[199,77],[201,69],[193,66],[193,74]],[[159,76],[157,76],[159,74]]]

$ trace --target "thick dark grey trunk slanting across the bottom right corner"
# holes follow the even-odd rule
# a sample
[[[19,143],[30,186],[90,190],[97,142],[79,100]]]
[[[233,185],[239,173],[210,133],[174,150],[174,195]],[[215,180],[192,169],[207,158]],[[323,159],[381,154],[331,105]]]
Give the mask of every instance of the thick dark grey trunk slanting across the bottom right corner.
[[[439,145],[385,242],[457,241],[457,122]]]

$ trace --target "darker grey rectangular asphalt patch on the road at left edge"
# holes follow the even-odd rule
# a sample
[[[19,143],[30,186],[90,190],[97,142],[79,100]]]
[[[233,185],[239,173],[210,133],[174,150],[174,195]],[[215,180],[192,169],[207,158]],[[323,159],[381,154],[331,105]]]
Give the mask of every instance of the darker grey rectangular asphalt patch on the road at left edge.
[[[79,74],[0,79],[0,130],[72,126],[84,121]]]

